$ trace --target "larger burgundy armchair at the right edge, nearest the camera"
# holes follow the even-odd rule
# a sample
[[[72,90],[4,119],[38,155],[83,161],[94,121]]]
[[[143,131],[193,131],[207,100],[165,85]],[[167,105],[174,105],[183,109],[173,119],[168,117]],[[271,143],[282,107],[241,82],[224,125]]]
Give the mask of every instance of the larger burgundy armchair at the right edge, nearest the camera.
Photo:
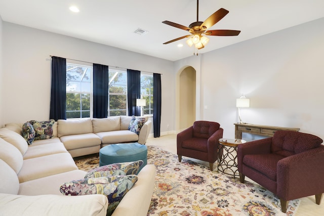
[[[240,182],[245,176],[280,199],[286,212],[289,200],[324,193],[324,146],[311,134],[277,131],[273,137],[240,144],[237,165]]]

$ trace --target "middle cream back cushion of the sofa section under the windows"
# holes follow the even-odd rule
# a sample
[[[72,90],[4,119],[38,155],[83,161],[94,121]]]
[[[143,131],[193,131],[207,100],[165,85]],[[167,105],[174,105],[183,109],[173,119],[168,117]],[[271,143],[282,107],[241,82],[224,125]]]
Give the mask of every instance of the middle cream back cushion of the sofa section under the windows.
[[[109,116],[107,118],[93,118],[92,119],[93,133],[119,131],[120,117]]]

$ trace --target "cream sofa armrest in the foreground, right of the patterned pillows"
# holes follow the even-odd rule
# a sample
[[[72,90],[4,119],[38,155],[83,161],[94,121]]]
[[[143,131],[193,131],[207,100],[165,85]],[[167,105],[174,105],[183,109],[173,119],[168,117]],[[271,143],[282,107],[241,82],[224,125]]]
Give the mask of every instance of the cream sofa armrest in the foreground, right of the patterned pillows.
[[[155,166],[144,166],[137,175],[138,181],[121,199],[112,216],[146,216],[154,191]]]

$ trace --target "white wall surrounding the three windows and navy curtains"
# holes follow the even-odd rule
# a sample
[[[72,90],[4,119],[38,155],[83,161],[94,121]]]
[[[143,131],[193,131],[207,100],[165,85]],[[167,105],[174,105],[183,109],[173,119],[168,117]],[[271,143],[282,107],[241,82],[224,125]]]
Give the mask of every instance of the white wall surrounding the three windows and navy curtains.
[[[174,129],[173,62],[8,22],[3,40],[3,124],[49,118],[52,55],[163,74],[161,132]]]

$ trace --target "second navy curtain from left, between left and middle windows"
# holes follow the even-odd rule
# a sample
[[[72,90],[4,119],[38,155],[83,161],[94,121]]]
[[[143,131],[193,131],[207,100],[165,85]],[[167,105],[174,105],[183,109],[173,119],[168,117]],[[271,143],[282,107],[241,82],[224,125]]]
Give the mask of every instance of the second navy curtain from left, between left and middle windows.
[[[108,116],[108,66],[93,64],[93,117]]]

